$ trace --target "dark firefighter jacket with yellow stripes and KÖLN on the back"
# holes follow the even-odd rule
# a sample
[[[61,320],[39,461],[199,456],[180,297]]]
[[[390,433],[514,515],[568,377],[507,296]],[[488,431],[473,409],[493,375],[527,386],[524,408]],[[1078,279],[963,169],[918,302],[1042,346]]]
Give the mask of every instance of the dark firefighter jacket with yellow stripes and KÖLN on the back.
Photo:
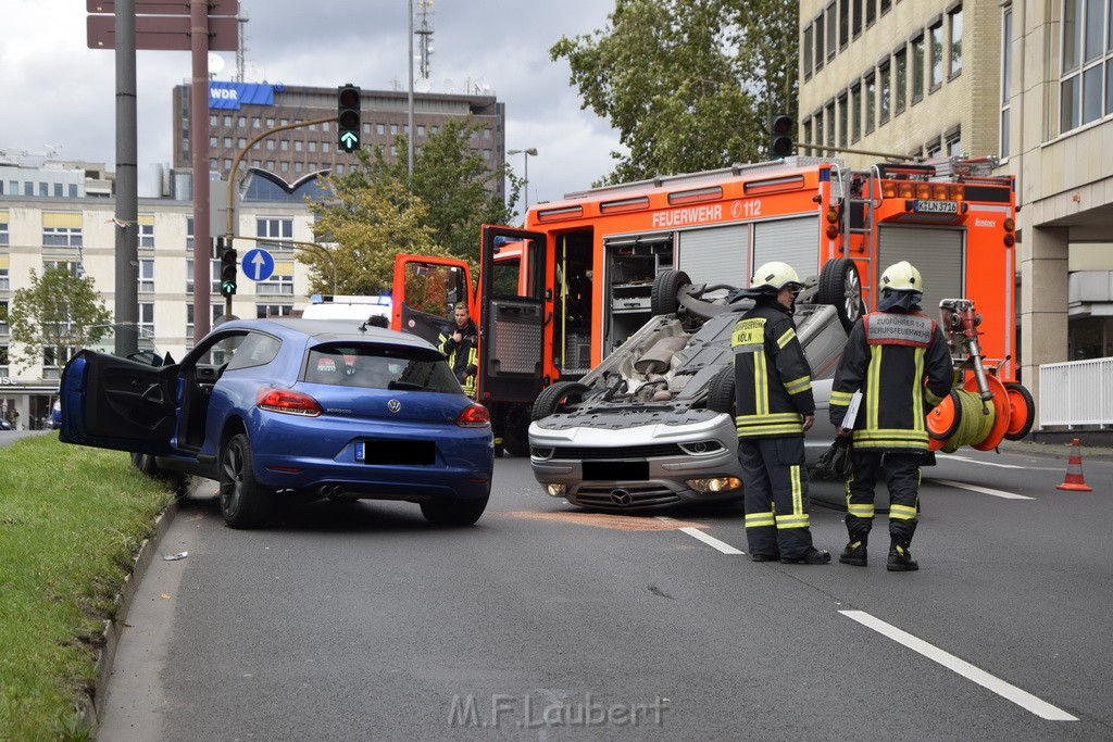
[[[759,300],[730,337],[735,355],[735,428],[739,438],[804,435],[816,412],[811,368],[788,309]]]

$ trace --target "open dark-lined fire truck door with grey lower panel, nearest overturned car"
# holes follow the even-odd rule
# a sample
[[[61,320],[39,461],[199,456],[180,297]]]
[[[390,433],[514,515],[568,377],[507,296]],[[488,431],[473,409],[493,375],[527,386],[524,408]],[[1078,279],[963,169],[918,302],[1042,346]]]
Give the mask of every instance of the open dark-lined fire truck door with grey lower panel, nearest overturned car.
[[[544,328],[550,319],[545,235],[491,225],[483,226],[482,235],[476,398],[531,404],[544,383]]]

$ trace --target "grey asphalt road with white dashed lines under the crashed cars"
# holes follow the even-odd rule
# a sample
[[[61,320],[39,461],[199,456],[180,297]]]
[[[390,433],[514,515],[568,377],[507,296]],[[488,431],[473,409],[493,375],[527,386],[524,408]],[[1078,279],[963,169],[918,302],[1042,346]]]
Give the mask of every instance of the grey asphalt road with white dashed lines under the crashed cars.
[[[98,739],[1110,739],[1113,463],[1091,493],[1065,464],[926,469],[917,573],[884,518],[866,568],[756,564],[740,507],[589,516],[514,458],[464,530],[319,503],[238,532],[189,498]],[[812,532],[840,548],[841,513]]]

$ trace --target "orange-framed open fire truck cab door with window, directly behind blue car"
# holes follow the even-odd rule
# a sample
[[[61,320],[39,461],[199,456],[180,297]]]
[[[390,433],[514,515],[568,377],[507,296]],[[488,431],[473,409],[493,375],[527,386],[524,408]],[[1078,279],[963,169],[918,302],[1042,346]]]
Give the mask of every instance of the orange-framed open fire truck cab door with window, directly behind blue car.
[[[475,315],[471,269],[455,258],[394,256],[392,294],[391,329],[416,335],[439,347],[441,335],[454,324],[454,304],[466,301]]]

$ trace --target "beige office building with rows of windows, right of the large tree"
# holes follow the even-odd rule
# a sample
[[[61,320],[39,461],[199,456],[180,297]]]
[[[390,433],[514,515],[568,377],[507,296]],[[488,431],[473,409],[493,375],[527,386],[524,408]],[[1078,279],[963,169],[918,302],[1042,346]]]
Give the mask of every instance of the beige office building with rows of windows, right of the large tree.
[[[800,57],[800,142],[1017,177],[1037,399],[1041,364],[1113,356],[1113,0],[801,0]]]

